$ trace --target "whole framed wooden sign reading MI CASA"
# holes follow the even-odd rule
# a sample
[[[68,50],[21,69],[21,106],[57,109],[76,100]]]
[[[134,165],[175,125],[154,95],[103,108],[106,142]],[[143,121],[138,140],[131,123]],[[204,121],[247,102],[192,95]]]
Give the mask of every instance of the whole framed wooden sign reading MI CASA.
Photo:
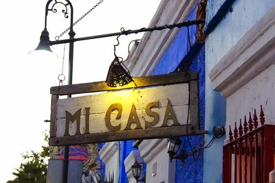
[[[52,87],[50,145],[206,133],[199,129],[197,73],[177,72],[133,80],[135,88],[131,84],[111,88],[105,82]],[[61,95],[74,97],[59,99]]]

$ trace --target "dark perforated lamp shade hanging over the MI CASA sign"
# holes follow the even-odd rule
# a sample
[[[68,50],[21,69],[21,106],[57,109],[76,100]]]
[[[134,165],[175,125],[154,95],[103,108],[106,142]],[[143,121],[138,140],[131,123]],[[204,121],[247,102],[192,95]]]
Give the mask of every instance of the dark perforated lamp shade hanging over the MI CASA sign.
[[[106,79],[107,86],[118,87],[129,84],[130,82],[133,82],[133,79],[128,69],[126,69],[126,66],[115,56],[115,59],[109,67]]]

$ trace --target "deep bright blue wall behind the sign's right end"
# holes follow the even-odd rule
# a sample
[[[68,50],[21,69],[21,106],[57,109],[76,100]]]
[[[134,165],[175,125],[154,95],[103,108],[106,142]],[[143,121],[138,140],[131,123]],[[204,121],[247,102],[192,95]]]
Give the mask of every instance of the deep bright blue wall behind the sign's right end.
[[[195,13],[197,8],[192,10],[188,20],[195,20]],[[186,21],[186,20],[185,20]],[[195,43],[195,34],[197,32],[196,26],[189,27],[190,36],[191,36],[191,45]],[[192,46],[191,46],[192,47]],[[192,51],[192,49],[191,49]],[[159,60],[155,66],[152,75],[170,73],[175,71],[175,69],[180,68],[181,65],[185,63],[181,62],[184,59],[187,53],[187,29],[183,27],[180,29],[175,40]],[[201,129],[204,127],[204,93],[205,93],[205,47],[201,45],[199,49],[189,54],[189,58],[192,59],[192,64],[189,68],[189,71],[198,71],[199,72],[199,108],[200,108],[200,125]],[[187,60],[188,60],[187,59]],[[186,60],[186,59],[184,59]],[[190,136],[190,145],[188,143],[187,137],[182,137],[181,140],[184,142],[183,147],[186,151],[191,151],[195,147],[203,145],[203,136]],[[181,163],[180,160],[176,162],[176,175],[175,183],[183,182],[202,182],[203,181],[203,151],[201,151],[200,156],[197,160],[194,160],[192,156],[186,159],[186,162]]]

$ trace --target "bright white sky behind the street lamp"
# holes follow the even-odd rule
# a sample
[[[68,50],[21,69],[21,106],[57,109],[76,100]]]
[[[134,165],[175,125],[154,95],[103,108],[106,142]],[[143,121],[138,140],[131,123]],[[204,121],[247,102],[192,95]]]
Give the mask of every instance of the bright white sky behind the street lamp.
[[[99,0],[71,0],[74,21]],[[74,26],[75,38],[120,32],[124,29],[148,27],[161,0],[104,0],[95,10]],[[46,0],[3,1],[1,5],[1,66],[0,66],[0,182],[12,180],[25,151],[41,151],[45,130],[50,129],[50,87],[58,86],[64,45],[52,46],[58,60],[30,60],[44,28]],[[69,27],[69,19],[58,12],[49,12],[47,30],[50,40]],[[143,34],[120,36],[116,54],[126,58],[131,40]],[[65,34],[61,39],[68,38]],[[113,60],[115,37],[85,40],[74,44],[73,83],[104,81]],[[68,48],[66,45],[64,74],[67,75]],[[65,80],[64,84],[67,84]]]

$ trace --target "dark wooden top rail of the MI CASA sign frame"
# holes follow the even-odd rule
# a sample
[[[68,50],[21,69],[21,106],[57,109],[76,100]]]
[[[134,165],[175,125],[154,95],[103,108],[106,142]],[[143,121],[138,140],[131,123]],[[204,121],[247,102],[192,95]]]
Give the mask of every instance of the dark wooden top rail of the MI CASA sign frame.
[[[133,80],[137,84],[137,88],[146,86],[157,86],[166,84],[186,83],[190,80],[197,80],[197,72],[176,72],[166,75],[152,75],[146,77],[134,77]],[[50,89],[52,95],[74,95],[79,93],[94,93],[109,90],[122,90],[133,88],[133,84],[122,86],[121,88],[113,88],[107,86],[105,82],[92,82],[86,84],[72,84],[65,86],[54,86]]]

